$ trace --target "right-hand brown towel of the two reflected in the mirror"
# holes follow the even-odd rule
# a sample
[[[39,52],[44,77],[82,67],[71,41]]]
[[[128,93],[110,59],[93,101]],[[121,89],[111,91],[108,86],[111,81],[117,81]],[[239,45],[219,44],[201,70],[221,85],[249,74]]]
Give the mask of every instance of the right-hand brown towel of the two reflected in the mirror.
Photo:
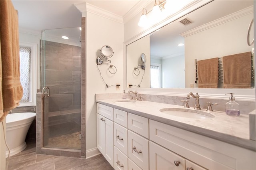
[[[251,88],[252,53],[222,57],[224,88]]]

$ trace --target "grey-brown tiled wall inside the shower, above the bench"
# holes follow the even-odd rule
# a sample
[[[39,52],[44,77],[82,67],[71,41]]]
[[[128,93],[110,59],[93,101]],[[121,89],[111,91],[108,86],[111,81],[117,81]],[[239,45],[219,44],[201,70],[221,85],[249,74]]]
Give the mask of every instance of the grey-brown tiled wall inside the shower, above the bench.
[[[49,116],[76,109],[80,114],[81,47],[46,41],[45,55]]]

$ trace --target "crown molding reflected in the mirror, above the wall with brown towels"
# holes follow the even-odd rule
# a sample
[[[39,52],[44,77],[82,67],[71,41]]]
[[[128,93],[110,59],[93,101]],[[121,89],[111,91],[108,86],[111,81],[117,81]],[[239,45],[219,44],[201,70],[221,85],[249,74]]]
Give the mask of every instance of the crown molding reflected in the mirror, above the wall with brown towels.
[[[207,24],[204,24],[202,26],[199,26],[197,28],[194,28],[192,30],[184,32],[184,33],[180,34],[180,36],[183,36],[183,37],[191,36],[191,35],[196,34],[198,32],[202,32],[204,30],[213,28],[213,27],[218,26],[220,24],[224,24],[226,22],[232,21],[234,19],[246,16],[246,15],[252,14],[252,13],[253,13],[253,6],[250,6],[248,8],[244,8],[243,10],[240,10],[238,12],[234,12],[233,14],[230,14],[230,15],[224,16],[222,18],[219,18],[218,20],[214,20],[212,22],[209,22]]]

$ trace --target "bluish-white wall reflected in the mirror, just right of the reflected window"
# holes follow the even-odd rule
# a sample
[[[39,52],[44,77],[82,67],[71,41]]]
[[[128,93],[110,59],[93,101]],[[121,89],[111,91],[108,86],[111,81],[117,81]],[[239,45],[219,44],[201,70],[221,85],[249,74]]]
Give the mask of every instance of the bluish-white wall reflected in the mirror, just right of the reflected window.
[[[162,88],[185,88],[184,56],[162,59]]]

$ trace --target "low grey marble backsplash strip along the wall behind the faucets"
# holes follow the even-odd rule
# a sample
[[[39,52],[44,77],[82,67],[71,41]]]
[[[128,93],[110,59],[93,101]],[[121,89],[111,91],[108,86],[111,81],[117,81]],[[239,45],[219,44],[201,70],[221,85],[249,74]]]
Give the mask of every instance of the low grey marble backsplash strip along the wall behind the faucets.
[[[193,108],[195,105],[195,99],[190,98],[186,99],[186,97],[178,97],[178,96],[165,96],[165,95],[148,95],[139,93],[138,97],[142,96],[142,101],[152,101],[157,103],[166,103],[172,105],[184,105],[181,100],[188,100],[189,107]],[[96,99],[122,99],[123,93],[106,93],[106,94],[96,94]],[[207,102],[211,103],[218,103],[216,106],[212,106],[213,110],[216,111],[225,111],[226,107],[225,104],[229,100],[224,99],[207,99],[207,98],[199,98],[199,103],[201,109],[207,109],[208,104]],[[248,115],[251,111],[255,110],[255,102],[253,101],[237,101],[240,105],[240,114]]]

